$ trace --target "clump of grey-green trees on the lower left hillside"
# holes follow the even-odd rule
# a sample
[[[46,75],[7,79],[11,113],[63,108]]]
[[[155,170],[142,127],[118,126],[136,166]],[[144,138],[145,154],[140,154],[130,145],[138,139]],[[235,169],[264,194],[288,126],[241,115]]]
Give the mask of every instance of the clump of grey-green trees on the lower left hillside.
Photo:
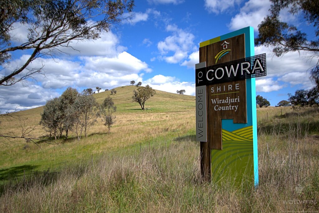
[[[108,132],[114,123],[116,106],[112,98],[107,97],[99,105],[92,95],[92,89],[85,89],[79,93],[68,87],[60,97],[50,99],[44,106],[40,124],[50,133],[50,137],[65,139],[73,131],[78,140],[84,133],[87,137],[89,129],[101,117]]]

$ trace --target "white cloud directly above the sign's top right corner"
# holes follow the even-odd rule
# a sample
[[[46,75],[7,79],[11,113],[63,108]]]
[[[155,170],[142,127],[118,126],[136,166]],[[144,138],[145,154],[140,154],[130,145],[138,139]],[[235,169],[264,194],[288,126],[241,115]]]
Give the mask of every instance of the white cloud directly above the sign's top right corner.
[[[263,18],[269,13],[270,2],[268,0],[249,0],[240,9],[240,13],[231,19],[229,28],[238,30],[247,26],[252,26],[255,31]]]

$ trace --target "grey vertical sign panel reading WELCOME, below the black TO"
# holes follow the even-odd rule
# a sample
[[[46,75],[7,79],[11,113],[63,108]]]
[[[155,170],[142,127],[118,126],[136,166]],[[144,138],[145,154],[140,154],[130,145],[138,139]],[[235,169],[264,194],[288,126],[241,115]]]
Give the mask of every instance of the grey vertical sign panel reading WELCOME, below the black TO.
[[[196,87],[196,141],[207,142],[206,86]]]

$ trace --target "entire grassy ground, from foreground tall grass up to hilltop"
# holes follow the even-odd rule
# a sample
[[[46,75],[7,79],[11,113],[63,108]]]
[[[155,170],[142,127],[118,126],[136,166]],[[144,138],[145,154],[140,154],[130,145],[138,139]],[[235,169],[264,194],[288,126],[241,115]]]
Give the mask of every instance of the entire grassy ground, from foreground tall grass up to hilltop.
[[[110,134],[99,121],[79,142],[72,134],[40,147],[0,138],[0,212],[319,211],[317,110],[258,108],[259,186],[217,186],[200,178],[195,97],[157,91],[143,111],[134,89],[111,96]],[[42,110],[19,112],[26,125],[3,120],[1,132],[36,126]],[[40,126],[32,134],[47,135]]]

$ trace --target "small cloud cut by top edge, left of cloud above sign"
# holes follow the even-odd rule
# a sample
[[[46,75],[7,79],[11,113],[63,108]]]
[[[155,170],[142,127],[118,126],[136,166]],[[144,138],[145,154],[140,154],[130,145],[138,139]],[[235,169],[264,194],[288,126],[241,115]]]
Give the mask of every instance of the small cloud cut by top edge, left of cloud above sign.
[[[218,14],[219,12],[234,8],[234,6],[239,3],[241,3],[241,0],[205,0],[205,8],[209,12]]]

